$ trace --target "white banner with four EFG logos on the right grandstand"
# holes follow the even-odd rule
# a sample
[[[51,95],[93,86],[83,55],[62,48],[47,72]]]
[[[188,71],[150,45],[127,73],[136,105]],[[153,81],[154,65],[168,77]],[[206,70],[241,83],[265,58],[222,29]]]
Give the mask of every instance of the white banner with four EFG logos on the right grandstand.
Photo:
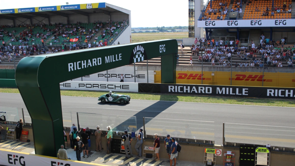
[[[292,27],[294,19],[261,19],[261,20],[204,20],[198,21],[198,28],[227,28],[227,27]]]

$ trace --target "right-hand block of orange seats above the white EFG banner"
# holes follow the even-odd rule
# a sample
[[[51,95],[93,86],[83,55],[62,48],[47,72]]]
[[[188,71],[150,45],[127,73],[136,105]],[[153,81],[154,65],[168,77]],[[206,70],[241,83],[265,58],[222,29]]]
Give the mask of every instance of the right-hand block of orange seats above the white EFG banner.
[[[258,1],[250,1],[249,5],[246,5],[243,19],[291,19],[291,13],[277,13],[274,11],[274,16],[271,16],[272,9],[272,1],[258,0]],[[291,3],[291,0],[278,0],[274,2],[274,7],[280,8],[282,11],[283,5],[287,6]],[[255,9],[258,9],[255,12]],[[263,11],[266,12],[266,7],[269,7],[268,16],[262,16]]]

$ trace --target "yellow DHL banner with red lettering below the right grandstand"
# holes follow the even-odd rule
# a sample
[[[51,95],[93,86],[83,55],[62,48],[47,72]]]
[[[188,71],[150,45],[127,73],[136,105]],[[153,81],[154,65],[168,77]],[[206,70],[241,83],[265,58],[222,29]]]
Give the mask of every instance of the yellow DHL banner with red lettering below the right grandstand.
[[[233,71],[176,71],[176,84],[295,87],[294,73]],[[154,82],[161,83],[161,71],[155,71]]]

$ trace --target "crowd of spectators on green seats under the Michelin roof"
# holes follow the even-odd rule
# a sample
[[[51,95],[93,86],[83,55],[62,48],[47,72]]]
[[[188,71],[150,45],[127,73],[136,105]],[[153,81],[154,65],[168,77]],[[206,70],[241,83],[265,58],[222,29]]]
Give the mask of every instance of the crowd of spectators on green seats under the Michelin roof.
[[[125,25],[124,25],[125,24]],[[33,24],[33,25],[17,25],[16,27],[12,26],[1,26],[0,27],[0,40],[2,40],[2,45],[0,47],[0,63],[4,61],[12,62],[16,57],[26,57],[32,55],[40,55],[40,54],[49,54],[56,52],[63,52],[68,50],[78,50],[82,43],[86,44],[87,48],[91,47],[102,47],[107,46],[110,40],[110,36],[118,35],[116,29],[119,29],[121,26],[126,26],[127,22],[123,20],[123,22],[112,22],[107,21],[107,27],[101,30],[104,26],[102,22],[95,21],[92,24],[92,28],[85,28],[82,26],[80,22],[76,24],[66,24],[63,25],[61,23],[55,23],[50,25],[46,24]],[[25,28],[20,33],[16,34],[17,28]],[[41,29],[40,31],[34,31],[35,28]],[[5,30],[7,28],[16,28],[12,31]],[[99,30],[100,37],[98,38],[96,35]],[[52,36],[52,37],[50,37]],[[63,39],[60,39],[60,36]],[[75,36],[75,37],[73,37]],[[85,40],[82,40],[82,36],[85,37]],[[95,36],[95,37],[94,37]],[[108,38],[106,36],[109,36]],[[10,37],[12,42],[18,42],[19,45],[15,44],[7,44],[3,37]],[[73,37],[75,42],[71,42],[70,38]],[[94,41],[97,41],[97,44],[90,43],[89,41],[94,37]],[[42,44],[32,44],[30,42],[34,42],[39,39]],[[51,38],[51,39],[50,39]],[[53,47],[46,47],[46,40],[52,40]],[[57,44],[61,43],[60,47],[57,47]],[[56,46],[54,46],[56,45]]]

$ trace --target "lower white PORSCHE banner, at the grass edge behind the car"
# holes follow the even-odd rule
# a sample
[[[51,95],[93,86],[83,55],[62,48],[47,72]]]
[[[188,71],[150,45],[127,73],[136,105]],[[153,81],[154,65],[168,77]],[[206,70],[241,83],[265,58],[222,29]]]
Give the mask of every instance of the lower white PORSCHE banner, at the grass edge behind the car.
[[[134,82],[65,81],[60,83],[59,87],[73,90],[138,92],[138,83]]]

